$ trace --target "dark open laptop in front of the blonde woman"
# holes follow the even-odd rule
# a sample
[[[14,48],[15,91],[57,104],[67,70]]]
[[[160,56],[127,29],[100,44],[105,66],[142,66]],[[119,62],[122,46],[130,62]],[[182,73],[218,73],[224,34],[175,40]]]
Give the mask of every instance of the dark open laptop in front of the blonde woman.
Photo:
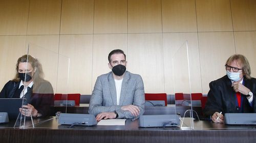
[[[22,98],[0,98],[0,112],[7,112],[10,120],[17,119],[22,102]],[[26,98],[24,98],[23,104],[27,105]]]

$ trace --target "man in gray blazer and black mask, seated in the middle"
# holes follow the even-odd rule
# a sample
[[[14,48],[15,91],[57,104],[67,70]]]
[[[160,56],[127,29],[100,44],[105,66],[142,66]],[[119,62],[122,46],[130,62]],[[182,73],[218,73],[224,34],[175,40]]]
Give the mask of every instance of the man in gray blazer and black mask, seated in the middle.
[[[109,53],[112,72],[100,75],[90,99],[89,113],[101,119],[132,119],[144,113],[144,85],[140,75],[126,70],[126,55],[120,49]]]

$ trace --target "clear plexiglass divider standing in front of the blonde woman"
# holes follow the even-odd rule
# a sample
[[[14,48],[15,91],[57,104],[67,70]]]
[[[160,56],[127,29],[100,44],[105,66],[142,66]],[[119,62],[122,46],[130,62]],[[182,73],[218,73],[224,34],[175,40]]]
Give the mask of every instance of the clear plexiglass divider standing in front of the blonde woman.
[[[69,72],[70,59],[48,47],[33,43],[27,46],[27,53],[22,56],[18,72],[23,73],[24,88],[20,95],[23,99],[21,109],[14,127],[34,128],[49,116],[58,116],[55,106],[60,106],[62,112],[69,107]],[[20,78],[21,79],[21,78]],[[55,97],[55,94],[64,95]],[[56,113],[57,112],[57,113]],[[36,122],[36,123],[35,123]]]

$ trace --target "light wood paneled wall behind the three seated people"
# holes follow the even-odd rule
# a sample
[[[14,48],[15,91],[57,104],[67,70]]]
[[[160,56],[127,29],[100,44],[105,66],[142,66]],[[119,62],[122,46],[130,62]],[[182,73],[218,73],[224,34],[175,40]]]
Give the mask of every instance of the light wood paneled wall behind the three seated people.
[[[91,94],[117,48],[147,93],[207,94],[234,53],[256,76],[254,0],[3,0],[0,19],[0,89],[28,45],[55,93]]]

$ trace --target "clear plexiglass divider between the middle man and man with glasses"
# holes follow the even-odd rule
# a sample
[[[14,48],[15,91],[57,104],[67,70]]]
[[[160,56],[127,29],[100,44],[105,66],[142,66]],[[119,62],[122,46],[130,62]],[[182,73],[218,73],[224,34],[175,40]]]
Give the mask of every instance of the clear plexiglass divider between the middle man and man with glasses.
[[[189,106],[184,115],[181,115],[181,129],[194,130],[194,120],[195,118],[199,120],[199,118],[197,112],[193,110],[193,102],[191,102],[191,78],[188,55],[188,42],[184,41],[172,56],[173,81],[174,93],[188,93],[190,95],[190,100],[180,101],[181,104],[179,106]]]

